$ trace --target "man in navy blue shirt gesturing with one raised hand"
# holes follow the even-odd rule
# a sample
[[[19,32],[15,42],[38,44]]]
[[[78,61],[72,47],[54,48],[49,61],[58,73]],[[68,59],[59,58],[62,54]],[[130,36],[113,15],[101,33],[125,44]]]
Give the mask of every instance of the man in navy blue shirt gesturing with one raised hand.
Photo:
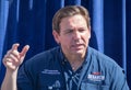
[[[122,69],[88,46],[91,24],[85,8],[60,9],[52,30],[60,46],[34,56],[20,70],[29,46],[21,53],[19,44],[12,46],[3,58],[7,74],[2,90],[129,90]]]

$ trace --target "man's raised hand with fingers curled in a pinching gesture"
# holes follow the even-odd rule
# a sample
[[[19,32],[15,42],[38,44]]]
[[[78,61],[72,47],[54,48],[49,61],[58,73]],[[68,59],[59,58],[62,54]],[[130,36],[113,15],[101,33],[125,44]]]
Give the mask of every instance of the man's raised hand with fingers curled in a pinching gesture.
[[[22,52],[17,52],[20,44],[13,44],[12,48],[3,57],[3,65],[8,70],[14,71],[23,63],[23,59],[29,48],[28,45],[24,46]]]

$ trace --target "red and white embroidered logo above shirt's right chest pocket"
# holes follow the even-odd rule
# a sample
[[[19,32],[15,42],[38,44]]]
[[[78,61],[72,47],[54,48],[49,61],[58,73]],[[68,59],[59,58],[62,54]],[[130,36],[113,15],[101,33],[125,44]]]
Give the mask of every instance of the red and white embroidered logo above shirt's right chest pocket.
[[[105,76],[103,76],[100,72],[92,72],[87,76],[90,80],[93,81],[103,81],[105,80]]]

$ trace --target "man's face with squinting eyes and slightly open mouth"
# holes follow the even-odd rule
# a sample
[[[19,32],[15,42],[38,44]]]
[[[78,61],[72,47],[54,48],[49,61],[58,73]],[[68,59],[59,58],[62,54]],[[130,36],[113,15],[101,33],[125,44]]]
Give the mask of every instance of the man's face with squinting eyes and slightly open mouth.
[[[56,32],[53,35],[66,55],[84,56],[91,37],[91,29],[85,19],[76,14],[63,18],[60,23],[60,33]]]

